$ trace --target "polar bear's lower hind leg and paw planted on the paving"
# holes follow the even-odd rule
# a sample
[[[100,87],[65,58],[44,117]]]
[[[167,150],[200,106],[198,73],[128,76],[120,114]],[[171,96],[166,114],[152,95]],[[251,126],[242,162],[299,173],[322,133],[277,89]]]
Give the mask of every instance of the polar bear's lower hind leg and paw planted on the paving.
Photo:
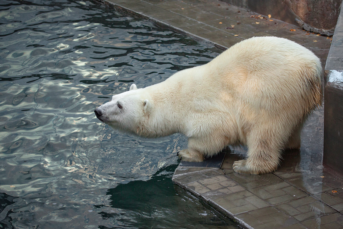
[[[281,144],[267,139],[254,139],[248,142],[246,160],[235,161],[232,165],[236,173],[264,174],[276,170],[280,161]]]

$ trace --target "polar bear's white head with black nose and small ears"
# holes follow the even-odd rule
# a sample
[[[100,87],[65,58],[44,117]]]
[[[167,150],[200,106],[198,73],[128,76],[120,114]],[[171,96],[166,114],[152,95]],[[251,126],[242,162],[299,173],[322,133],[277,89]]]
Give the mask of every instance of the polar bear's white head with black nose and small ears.
[[[144,89],[137,89],[132,84],[129,91],[113,95],[112,100],[95,109],[96,117],[111,126],[124,132],[140,134],[142,124],[151,110]]]

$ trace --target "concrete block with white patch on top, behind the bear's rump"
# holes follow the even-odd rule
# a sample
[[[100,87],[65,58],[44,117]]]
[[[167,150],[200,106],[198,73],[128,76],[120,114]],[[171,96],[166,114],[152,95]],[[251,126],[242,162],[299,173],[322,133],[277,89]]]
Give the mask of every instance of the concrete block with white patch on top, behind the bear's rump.
[[[343,4],[325,66],[323,163],[343,171]],[[334,79],[333,76],[341,79]],[[337,77],[336,77],[337,78]]]

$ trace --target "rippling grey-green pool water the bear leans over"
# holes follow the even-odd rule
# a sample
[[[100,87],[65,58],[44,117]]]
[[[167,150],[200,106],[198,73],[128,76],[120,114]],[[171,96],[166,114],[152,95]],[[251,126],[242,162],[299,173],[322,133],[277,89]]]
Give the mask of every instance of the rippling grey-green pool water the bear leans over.
[[[1,228],[236,228],[171,181],[184,136],[93,112],[221,50],[87,1],[3,0],[0,34]]]

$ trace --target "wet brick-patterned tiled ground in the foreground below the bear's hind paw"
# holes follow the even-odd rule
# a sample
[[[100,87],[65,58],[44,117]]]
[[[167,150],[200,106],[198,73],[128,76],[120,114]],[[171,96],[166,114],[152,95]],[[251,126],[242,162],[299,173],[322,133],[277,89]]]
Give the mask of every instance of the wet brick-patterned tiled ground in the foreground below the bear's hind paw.
[[[244,228],[343,228],[342,179],[332,171],[237,174],[230,154],[221,169],[179,167],[173,180]]]

